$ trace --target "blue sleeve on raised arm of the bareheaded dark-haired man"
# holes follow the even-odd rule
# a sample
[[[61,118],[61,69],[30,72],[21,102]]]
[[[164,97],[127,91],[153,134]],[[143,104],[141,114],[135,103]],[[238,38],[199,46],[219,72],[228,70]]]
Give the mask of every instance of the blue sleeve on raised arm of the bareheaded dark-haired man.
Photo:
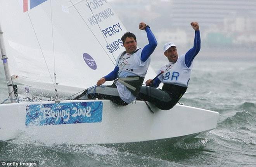
[[[149,56],[153,53],[157,46],[156,38],[150,28],[146,27],[145,30],[147,32],[147,39],[149,40],[149,44],[147,44],[141,52],[140,60],[144,62],[149,58]]]

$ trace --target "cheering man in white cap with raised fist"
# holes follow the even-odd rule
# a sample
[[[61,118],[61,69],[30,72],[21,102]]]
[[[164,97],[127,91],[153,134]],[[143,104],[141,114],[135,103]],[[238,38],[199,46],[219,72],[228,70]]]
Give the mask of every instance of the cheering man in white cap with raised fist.
[[[158,77],[146,81],[150,87],[142,86],[140,89],[139,98],[154,103],[161,110],[173,108],[187,90],[193,60],[201,47],[199,25],[192,22],[191,26],[195,30],[194,46],[186,54],[178,56],[176,45],[166,43],[164,56],[169,62],[161,67]],[[156,89],[161,82],[162,89]]]

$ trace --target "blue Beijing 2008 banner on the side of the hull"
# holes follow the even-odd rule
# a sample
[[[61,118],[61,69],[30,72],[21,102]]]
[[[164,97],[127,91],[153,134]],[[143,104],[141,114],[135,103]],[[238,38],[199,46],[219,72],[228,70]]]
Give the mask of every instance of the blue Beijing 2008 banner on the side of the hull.
[[[102,101],[26,106],[26,127],[97,123],[102,121]]]

